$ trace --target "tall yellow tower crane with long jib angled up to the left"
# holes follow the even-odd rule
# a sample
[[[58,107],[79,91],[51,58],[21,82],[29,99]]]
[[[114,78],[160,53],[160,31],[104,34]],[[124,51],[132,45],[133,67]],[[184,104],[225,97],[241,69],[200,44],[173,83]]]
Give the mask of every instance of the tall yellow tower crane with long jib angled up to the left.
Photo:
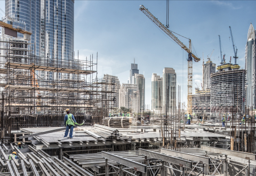
[[[200,58],[195,56],[192,53],[191,49],[191,39],[189,40],[189,48],[184,45],[176,36],[174,36],[174,32],[167,29],[164,24],[157,20],[157,18],[151,14],[146,7],[140,5],[140,11],[143,12],[148,18],[153,21],[160,29],[162,29],[169,37],[171,37],[181,48],[183,48],[188,53],[188,113],[192,113],[192,81],[193,81],[193,58],[195,62],[200,61]],[[186,37],[185,37],[186,38]]]

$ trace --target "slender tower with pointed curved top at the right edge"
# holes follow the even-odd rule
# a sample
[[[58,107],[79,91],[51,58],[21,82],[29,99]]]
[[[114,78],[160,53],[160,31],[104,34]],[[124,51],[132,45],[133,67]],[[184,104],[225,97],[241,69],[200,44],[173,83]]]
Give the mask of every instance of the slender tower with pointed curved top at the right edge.
[[[246,106],[255,109],[255,70],[256,70],[256,49],[255,49],[255,30],[252,23],[247,35],[245,48],[245,70],[246,74]],[[252,98],[251,98],[252,97]]]

